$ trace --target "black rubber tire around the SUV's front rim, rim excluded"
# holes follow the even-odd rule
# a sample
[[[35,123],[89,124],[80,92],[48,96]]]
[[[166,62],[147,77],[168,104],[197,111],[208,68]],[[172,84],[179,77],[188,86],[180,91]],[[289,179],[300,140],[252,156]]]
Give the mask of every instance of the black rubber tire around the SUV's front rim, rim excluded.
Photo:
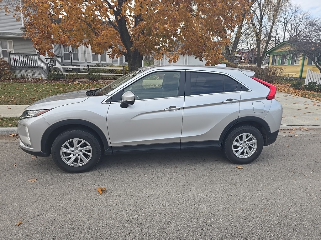
[[[80,144],[82,142],[81,140],[83,140],[84,143],[81,146],[86,146],[88,143],[88,146],[90,146],[91,149],[86,149],[83,151],[79,150],[82,152],[82,155],[81,157],[78,157],[80,156],[80,152],[77,152],[77,154],[75,154],[75,158],[76,158],[75,160],[72,160],[71,153],[70,153],[71,157],[68,157],[68,153],[62,153],[65,155],[65,157],[67,157],[66,161],[67,160],[74,161],[70,163],[74,165],[69,165],[63,160],[60,150],[62,149],[63,145],[67,146],[65,145],[65,143],[68,140],[70,140],[69,142],[70,144],[69,143],[68,144],[71,147],[71,149],[74,149],[74,153],[76,153],[75,151],[78,151],[78,150],[75,150],[76,148],[74,148],[74,146],[72,145],[73,139],[79,139],[78,144]],[[81,147],[79,147],[79,149],[81,149]],[[91,155],[87,154],[86,152],[88,152]],[[65,172],[70,172],[70,173],[87,172],[98,164],[101,157],[101,146],[97,137],[95,137],[95,135],[92,134],[91,132],[84,129],[69,129],[60,133],[56,137],[51,147],[51,154],[55,164]],[[88,158],[89,161],[85,163],[85,161],[82,160],[82,157],[86,159]],[[75,164],[77,164],[76,163],[77,161],[79,161],[80,164],[83,164],[83,165],[75,166]]]

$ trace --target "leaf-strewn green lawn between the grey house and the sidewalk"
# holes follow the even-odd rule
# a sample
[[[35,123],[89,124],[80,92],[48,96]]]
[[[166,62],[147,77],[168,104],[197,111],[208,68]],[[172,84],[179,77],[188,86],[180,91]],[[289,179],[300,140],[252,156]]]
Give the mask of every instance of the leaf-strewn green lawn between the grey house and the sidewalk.
[[[0,82],[0,105],[30,105],[51,95],[98,88],[108,82],[86,83],[9,83]]]

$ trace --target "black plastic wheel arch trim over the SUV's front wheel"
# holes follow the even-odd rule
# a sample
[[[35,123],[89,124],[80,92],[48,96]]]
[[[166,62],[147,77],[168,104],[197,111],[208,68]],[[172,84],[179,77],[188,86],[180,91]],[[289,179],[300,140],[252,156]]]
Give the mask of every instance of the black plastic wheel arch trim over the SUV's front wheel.
[[[68,119],[52,124],[43,133],[41,137],[41,152],[49,156],[51,153],[51,146],[56,139],[56,137],[63,131],[71,128],[82,128],[89,130],[91,133],[95,134],[100,141],[101,147],[104,149],[105,155],[111,152],[109,148],[108,140],[101,129],[95,124],[82,119]]]

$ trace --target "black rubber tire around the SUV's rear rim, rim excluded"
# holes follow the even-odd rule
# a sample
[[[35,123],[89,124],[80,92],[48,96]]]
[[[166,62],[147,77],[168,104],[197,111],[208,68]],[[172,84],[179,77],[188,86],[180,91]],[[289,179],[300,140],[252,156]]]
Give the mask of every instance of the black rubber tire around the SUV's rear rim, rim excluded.
[[[245,156],[245,158],[238,157],[234,154],[232,148],[236,149],[235,152],[239,153],[240,150],[237,150],[237,147],[233,147],[233,142],[236,140],[236,138],[241,134],[251,134],[256,139],[256,149],[250,146],[245,145],[244,148],[247,147],[248,150],[254,150],[252,155],[246,157],[245,150],[241,152],[241,155]],[[242,139],[242,136],[240,137]],[[253,138],[252,138],[253,139]],[[243,139],[242,139],[243,140]],[[241,142],[241,144],[244,144]],[[262,150],[263,150],[264,140],[261,132],[257,130],[257,128],[249,125],[239,126],[235,129],[233,129],[225,138],[224,145],[223,145],[223,151],[225,153],[225,156],[234,164],[248,164],[253,162],[258,156],[260,156]],[[241,148],[241,147],[239,147]],[[243,148],[243,147],[242,147]]]

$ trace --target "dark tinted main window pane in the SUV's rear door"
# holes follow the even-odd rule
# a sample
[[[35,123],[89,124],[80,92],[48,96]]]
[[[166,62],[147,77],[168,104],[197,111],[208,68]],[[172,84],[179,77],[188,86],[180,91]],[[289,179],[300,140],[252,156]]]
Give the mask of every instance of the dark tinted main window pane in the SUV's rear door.
[[[223,92],[223,75],[191,72],[191,95]]]

